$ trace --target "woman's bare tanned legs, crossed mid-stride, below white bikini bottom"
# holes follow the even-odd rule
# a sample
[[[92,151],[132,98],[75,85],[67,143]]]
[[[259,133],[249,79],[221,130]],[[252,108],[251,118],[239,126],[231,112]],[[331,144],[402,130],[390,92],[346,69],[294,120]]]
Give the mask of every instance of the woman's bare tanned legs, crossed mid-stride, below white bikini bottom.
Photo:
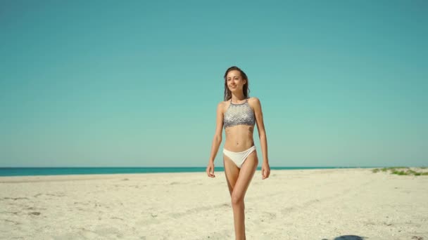
[[[224,159],[227,185],[232,199],[235,239],[241,240],[245,239],[244,196],[258,166],[257,153],[251,152],[241,169],[227,156]]]

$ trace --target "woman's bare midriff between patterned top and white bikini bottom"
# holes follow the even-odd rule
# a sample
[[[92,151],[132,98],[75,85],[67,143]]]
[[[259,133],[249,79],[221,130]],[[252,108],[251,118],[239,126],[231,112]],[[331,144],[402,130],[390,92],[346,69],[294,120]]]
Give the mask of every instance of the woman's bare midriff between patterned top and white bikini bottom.
[[[225,129],[224,148],[231,152],[243,152],[254,145],[254,126],[237,125]]]

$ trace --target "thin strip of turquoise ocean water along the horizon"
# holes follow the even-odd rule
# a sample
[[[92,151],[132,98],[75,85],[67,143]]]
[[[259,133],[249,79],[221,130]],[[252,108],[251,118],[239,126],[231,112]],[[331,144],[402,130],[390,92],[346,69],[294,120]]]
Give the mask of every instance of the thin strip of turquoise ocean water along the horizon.
[[[270,170],[294,169],[331,169],[354,167],[270,167]],[[367,168],[367,167],[358,167]],[[261,168],[258,167],[258,170]],[[215,171],[224,171],[223,167],[216,167]],[[26,176],[26,175],[80,175],[80,174],[117,174],[117,173],[204,173],[206,167],[73,167],[73,168],[0,168],[0,176]]]

